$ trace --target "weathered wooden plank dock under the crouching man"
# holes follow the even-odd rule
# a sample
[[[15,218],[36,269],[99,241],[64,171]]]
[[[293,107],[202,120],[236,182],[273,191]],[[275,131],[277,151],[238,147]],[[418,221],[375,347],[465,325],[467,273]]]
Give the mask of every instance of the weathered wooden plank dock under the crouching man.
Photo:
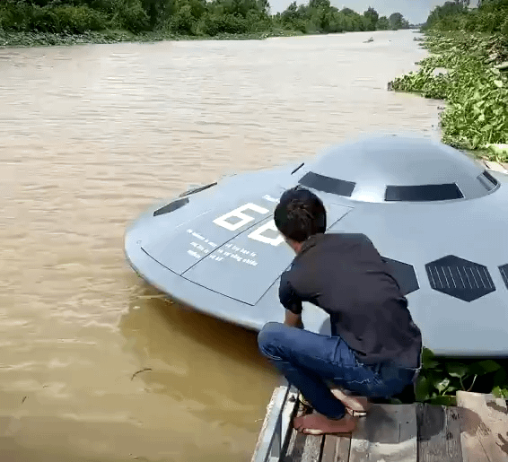
[[[305,409],[297,390],[277,387],[252,462],[508,462],[503,398],[457,392],[457,406],[372,405],[353,433],[311,436],[293,429]]]

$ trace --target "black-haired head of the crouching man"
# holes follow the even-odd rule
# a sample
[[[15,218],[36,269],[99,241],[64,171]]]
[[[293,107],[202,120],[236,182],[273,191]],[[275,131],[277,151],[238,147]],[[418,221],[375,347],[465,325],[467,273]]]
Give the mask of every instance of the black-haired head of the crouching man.
[[[325,206],[318,196],[303,187],[285,191],[276,206],[274,220],[277,230],[296,253],[305,240],[327,229]]]

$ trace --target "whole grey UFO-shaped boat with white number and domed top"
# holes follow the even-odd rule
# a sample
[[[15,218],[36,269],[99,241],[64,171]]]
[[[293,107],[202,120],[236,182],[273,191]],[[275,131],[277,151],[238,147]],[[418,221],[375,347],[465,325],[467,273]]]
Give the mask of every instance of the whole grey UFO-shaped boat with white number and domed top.
[[[173,300],[216,318],[254,330],[283,322],[278,282],[294,254],[273,213],[296,185],[322,199],[327,232],[372,240],[425,346],[507,355],[508,175],[432,138],[372,136],[189,190],[129,227],[127,259]],[[328,334],[328,315],[303,307],[305,328]]]

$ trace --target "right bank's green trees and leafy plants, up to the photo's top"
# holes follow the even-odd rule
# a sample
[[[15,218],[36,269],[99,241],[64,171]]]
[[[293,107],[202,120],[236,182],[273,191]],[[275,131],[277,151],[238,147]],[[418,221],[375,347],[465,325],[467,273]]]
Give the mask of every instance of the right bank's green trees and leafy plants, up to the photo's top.
[[[497,161],[508,159],[507,24],[508,0],[484,1],[470,12],[459,1],[447,2],[425,25],[423,46],[432,55],[417,63],[418,72],[389,83],[392,90],[445,100],[442,141]]]

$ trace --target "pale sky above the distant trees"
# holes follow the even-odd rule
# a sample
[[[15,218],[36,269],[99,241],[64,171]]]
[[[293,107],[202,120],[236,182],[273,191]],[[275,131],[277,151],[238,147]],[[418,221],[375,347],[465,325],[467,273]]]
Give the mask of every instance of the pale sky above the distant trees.
[[[332,6],[339,10],[342,8],[351,8],[356,13],[363,13],[369,6],[372,6],[380,16],[389,17],[391,13],[402,13],[408,22],[419,24],[425,22],[429,13],[434,10],[438,4],[444,4],[435,0],[330,0]],[[282,13],[293,0],[268,0],[271,6],[271,13]],[[471,2],[474,3],[474,2]],[[309,0],[296,0],[296,4],[309,4]]]

